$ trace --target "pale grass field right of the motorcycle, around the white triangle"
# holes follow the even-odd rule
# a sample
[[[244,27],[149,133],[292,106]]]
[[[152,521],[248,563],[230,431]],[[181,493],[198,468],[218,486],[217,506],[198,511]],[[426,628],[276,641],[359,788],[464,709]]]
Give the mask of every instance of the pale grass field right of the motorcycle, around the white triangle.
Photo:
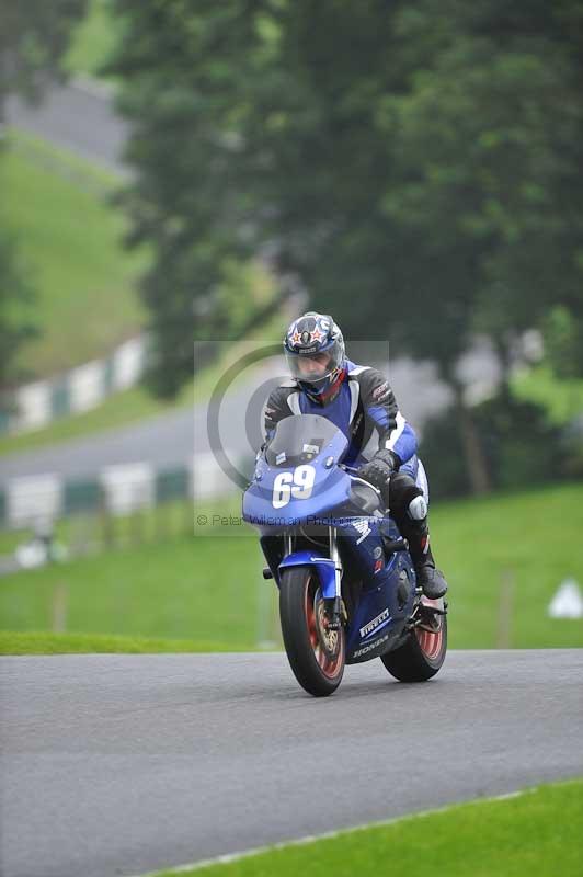
[[[576,482],[433,506],[432,545],[450,589],[451,646],[498,645],[506,581],[512,647],[583,646],[582,619],[547,615],[564,579],[574,578],[583,588],[582,503],[583,482]]]

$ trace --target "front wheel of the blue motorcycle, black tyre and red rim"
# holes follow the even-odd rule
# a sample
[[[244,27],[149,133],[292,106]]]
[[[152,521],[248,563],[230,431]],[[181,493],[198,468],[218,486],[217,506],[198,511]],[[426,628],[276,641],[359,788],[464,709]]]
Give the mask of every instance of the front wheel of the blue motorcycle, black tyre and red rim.
[[[290,567],[282,573],[279,617],[287,658],[297,681],[315,697],[335,692],[344,673],[344,628],[330,630],[318,573]]]

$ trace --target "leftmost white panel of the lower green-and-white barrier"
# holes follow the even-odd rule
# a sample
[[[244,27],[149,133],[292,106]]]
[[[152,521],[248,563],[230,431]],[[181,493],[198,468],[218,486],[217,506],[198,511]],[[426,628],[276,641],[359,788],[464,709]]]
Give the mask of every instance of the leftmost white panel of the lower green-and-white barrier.
[[[62,509],[62,482],[58,475],[14,478],[8,483],[9,526],[30,526],[58,517]]]

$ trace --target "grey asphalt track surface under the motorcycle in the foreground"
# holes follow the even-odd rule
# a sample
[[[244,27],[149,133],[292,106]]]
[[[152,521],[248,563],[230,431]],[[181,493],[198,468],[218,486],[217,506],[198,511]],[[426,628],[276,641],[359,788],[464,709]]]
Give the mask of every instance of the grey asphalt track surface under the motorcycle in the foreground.
[[[350,667],[281,653],[0,660],[2,877],[108,877],[583,775],[583,649]]]

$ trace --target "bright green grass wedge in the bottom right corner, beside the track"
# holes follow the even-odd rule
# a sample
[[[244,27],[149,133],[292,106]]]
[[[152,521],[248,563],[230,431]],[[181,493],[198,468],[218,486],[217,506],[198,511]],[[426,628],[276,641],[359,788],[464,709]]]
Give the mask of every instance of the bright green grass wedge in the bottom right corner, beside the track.
[[[583,782],[528,789],[288,844],[182,877],[580,877]],[[158,872],[171,877],[176,870]]]

